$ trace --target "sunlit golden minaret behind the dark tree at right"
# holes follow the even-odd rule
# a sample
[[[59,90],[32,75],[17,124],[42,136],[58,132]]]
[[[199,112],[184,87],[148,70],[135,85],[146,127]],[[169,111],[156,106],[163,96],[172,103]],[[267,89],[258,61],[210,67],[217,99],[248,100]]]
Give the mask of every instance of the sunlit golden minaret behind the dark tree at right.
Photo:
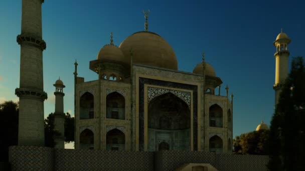
[[[281,30],[273,42],[273,45],[276,47],[276,52],[274,53],[275,83],[273,85],[273,89],[275,90],[275,105],[278,102],[281,87],[288,76],[288,44],[290,41],[287,34]]]

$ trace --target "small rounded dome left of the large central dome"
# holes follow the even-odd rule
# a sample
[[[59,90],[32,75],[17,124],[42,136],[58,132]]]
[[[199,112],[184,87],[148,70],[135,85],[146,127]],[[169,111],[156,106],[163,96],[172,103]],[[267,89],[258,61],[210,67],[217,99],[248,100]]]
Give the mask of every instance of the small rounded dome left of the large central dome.
[[[101,61],[116,61],[116,62],[123,62],[128,64],[129,59],[125,58],[122,50],[113,45],[113,44],[106,44],[104,45],[97,54],[97,59]]]

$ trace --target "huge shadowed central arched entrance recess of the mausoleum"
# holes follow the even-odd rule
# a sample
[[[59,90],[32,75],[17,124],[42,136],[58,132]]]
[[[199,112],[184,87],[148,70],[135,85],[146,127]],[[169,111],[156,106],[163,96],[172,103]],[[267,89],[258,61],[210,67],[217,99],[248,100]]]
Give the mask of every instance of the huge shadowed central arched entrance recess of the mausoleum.
[[[171,92],[148,104],[148,151],[191,149],[191,112],[188,104]]]

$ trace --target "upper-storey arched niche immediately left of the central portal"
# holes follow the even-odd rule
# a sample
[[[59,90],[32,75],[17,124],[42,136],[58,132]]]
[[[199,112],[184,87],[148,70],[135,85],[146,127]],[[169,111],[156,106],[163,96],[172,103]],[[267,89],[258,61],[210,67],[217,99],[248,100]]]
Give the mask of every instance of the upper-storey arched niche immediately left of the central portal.
[[[125,98],[114,91],[106,96],[106,117],[113,119],[125,119]]]

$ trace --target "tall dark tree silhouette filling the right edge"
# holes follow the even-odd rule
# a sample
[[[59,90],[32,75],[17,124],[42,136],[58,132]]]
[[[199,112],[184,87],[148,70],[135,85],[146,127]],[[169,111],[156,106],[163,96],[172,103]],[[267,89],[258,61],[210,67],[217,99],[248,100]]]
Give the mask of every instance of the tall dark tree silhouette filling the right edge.
[[[295,57],[271,120],[269,170],[305,170],[304,123],[305,64]]]

